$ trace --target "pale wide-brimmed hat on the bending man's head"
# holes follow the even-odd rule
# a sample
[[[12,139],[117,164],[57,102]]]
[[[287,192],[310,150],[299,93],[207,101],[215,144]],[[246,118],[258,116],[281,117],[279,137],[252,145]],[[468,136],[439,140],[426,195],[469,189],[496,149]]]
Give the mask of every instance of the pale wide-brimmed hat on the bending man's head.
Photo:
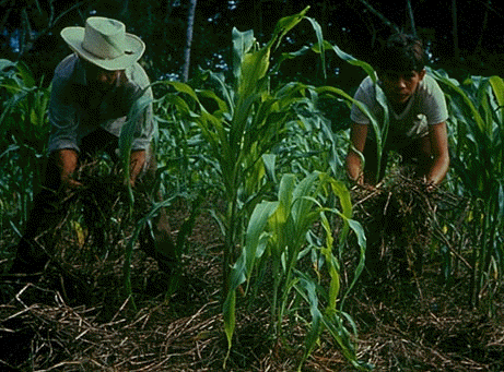
[[[142,57],[145,44],[117,20],[91,16],[85,27],[66,27],[61,37],[69,47],[91,63],[108,70],[124,70]]]

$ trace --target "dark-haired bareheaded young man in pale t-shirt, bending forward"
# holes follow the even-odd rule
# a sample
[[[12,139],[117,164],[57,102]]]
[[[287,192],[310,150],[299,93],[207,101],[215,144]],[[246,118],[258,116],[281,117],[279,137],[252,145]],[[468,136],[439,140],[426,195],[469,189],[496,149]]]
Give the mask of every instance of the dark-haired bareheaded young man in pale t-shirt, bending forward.
[[[417,165],[417,176],[424,180],[427,190],[433,190],[446,176],[448,112],[443,92],[425,72],[425,60],[422,43],[406,34],[392,35],[379,50],[376,70],[388,105],[389,129],[380,169],[377,169],[376,140],[370,119],[355,105],[352,107],[347,171],[358,184],[376,185],[385,175],[390,149],[398,152],[405,161]],[[384,110],[371,77],[361,83],[354,98],[383,122]]]

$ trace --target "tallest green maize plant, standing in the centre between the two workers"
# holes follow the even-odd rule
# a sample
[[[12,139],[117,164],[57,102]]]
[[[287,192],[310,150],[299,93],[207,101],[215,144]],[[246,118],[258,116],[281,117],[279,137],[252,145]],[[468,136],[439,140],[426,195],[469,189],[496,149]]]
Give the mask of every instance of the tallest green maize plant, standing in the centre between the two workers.
[[[166,94],[162,100],[177,110],[183,125],[188,122],[198,125],[218,169],[225,201],[225,209],[215,211],[225,238],[224,292],[231,266],[243,247],[246,218],[274,184],[276,156],[270,151],[285,136],[285,124],[295,116],[292,105],[307,94],[307,87],[301,83],[270,87],[270,74],[278,71],[278,67],[270,69],[270,56],[285,34],[307,19],[308,9],[281,19],[272,38],[262,47],[251,31],[234,28],[231,83],[223,74],[209,71],[203,75],[212,89],[164,82],[175,93]],[[319,25],[307,20],[321,43]]]

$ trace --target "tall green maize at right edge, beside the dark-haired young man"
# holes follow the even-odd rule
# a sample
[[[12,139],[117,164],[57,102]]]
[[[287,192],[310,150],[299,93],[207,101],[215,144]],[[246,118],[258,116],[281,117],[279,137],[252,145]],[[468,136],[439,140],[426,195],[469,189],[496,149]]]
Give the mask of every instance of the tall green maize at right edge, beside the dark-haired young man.
[[[445,91],[455,136],[452,164],[461,192],[472,201],[471,301],[504,273],[504,82],[471,76],[459,83],[444,71],[433,75]],[[496,280],[495,280],[496,279]]]

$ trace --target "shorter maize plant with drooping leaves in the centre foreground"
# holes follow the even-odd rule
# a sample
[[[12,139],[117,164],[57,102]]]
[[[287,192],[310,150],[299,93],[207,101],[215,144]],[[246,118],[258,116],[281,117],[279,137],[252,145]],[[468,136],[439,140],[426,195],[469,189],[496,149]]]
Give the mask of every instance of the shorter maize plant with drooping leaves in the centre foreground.
[[[328,194],[339,199],[341,209],[323,206],[323,201]],[[343,221],[336,244],[335,226],[330,224],[329,214],[339,216]],[[273,279],[271,302],[273,338],[282,337],[282,324],[288,314],[296,312],[296,316],[309,325],[300,370],[316,347],[324,329],[333,337],[345,358],[354,367],[364,368],[355,355],[356,331],[353,326],[349,328],[345,325],[352,325],[353,322],[342,310],[344,296],[340,286],[342,267],[339,257],[350,230],[358,236],[360,261],[347,293],[364,266],[364,231],[358,221],[351,219],[351,216],[350,193],[342,182],[320,172],[313,172],[301,181],[297,181],[294,175],[282,177],[278,200],[265,201],[254,209],[247,227],[244,250],[233,266],[231,286],[224,302],[224,324],[230,349],[236,322],[236,289],[245,281],[247,284],[250,281],[255,268],[267,265],[271,266]],[[321,231],[314,229],[317,224],[321,226]],[[313,243],[306,248],[310,235],[317,238],[309,239]],[[337,248],[335,249],[333,245]],[[313,254],[307,254],[307,251],[312,251]],[[315,278],[302,268],[303,257],[313,257],[312,265],[318,267],[315,269]],[[320,280],[316,279],[321,276],[319,271],[324,267],[327,277],[330,278],[328,288],[324,288]],[[263,271],[259,268],[257,272]],[[298,310],[302,308],[298,304],[293,305],[298,300],[306,303],[308,310],[305,313]],[[306,316],[310,319],[305,319]]]

